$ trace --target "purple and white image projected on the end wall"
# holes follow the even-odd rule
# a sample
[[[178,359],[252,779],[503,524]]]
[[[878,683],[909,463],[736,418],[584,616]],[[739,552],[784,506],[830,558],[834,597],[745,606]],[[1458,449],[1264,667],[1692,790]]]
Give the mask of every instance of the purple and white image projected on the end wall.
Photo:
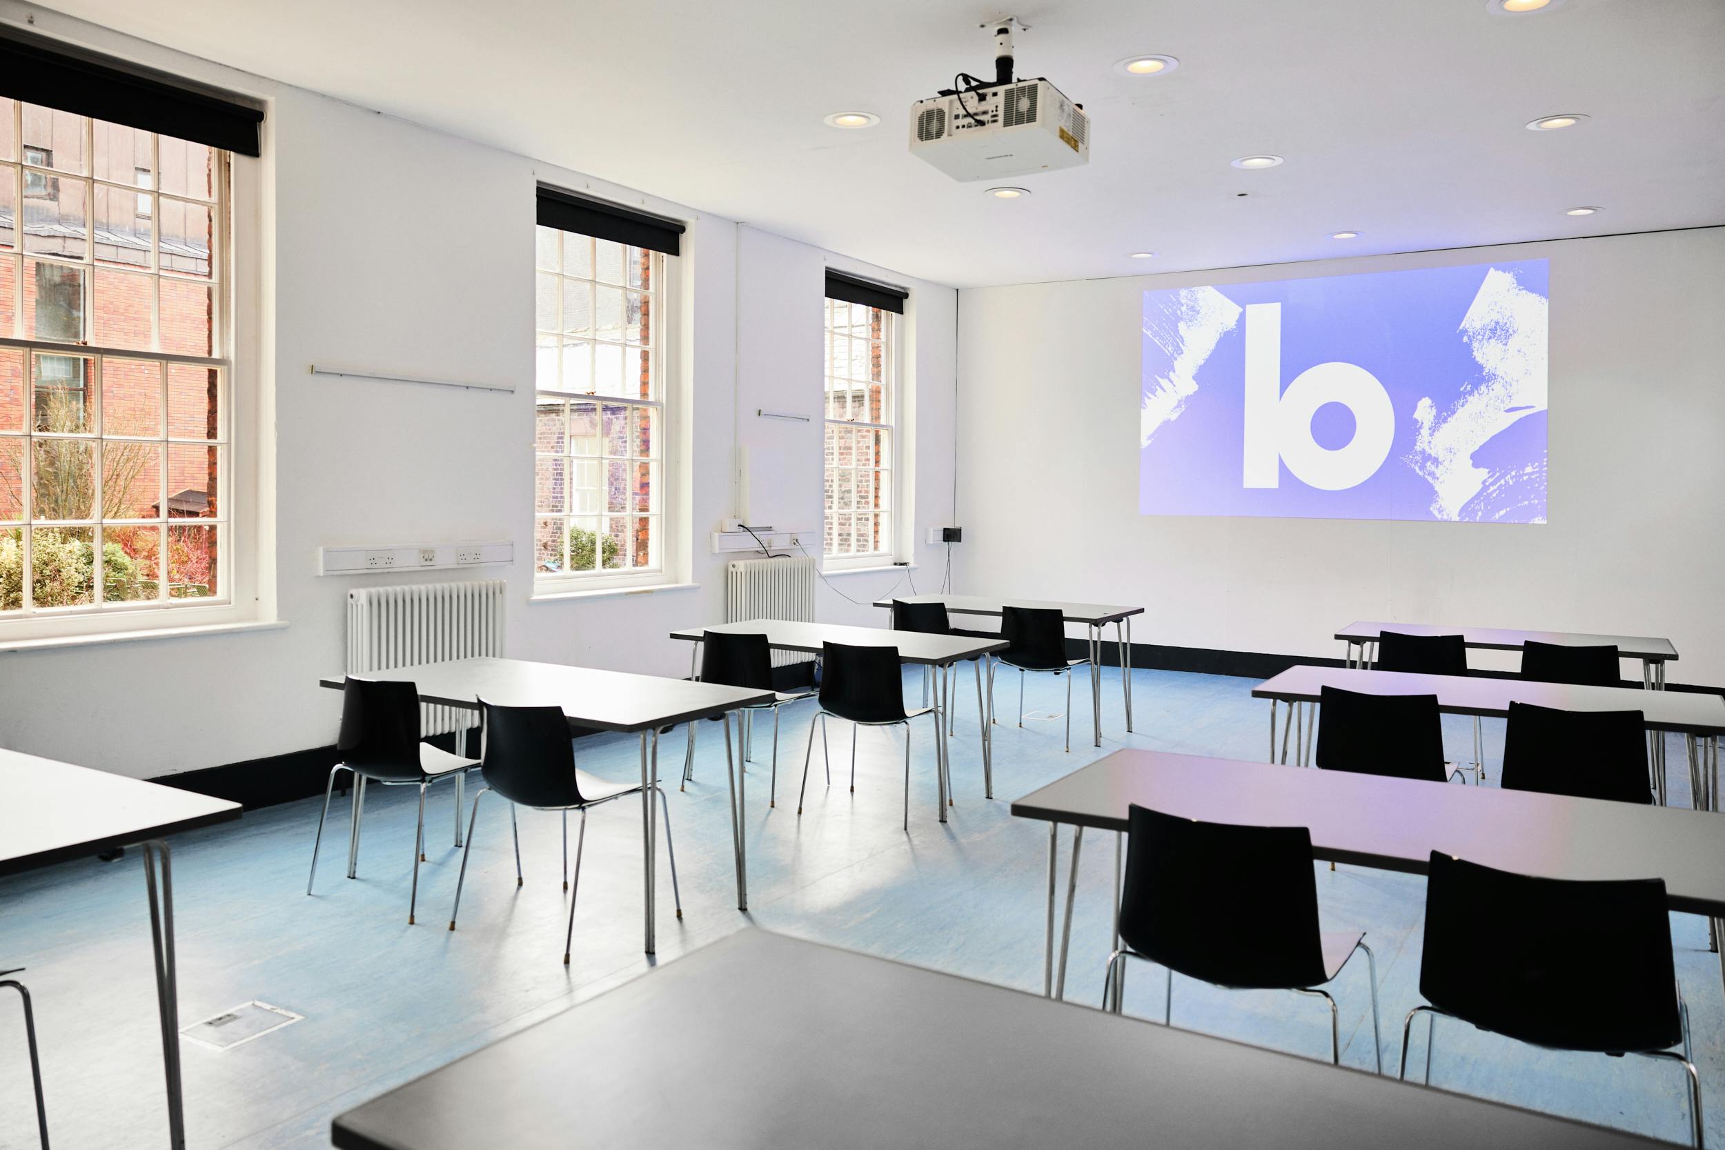
[[[1144,293],[1138,512],[1546,522],[1547,264]]]

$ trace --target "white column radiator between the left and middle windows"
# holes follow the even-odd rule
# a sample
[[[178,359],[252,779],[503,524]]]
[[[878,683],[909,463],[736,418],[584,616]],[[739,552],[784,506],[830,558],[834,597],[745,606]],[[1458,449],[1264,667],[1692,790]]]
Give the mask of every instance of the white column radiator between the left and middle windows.
[[[366,586],[347,593],[347,671],[376,674],[447,659],[504,653],[502,579]],[[447,734],[474,726],[471,710],[423,709],[419,731]]]

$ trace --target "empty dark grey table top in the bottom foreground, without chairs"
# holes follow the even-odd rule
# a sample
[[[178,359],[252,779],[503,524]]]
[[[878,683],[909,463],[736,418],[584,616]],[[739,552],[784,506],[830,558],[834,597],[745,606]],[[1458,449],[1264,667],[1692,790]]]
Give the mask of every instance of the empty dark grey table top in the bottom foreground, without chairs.
[[[335,1119],[338,1150],[1653,1147],[743,929]]]

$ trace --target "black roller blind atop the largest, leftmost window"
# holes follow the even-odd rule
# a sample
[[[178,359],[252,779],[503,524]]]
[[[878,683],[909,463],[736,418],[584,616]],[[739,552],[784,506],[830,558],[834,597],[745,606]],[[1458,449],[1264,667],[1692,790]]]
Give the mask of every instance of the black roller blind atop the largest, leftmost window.
[[[257,103],[12,28],[0,29],[0,97],[259,155]]]

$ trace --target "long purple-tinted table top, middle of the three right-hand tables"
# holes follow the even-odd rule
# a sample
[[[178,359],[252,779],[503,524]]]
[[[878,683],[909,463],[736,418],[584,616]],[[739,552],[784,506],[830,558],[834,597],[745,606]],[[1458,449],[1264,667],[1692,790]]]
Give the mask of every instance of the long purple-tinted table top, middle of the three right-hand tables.
[[[1452,716],[1509,714],[1509,703],[1559,710],[1639,710],[1653,731],[1716,734],[1725,731],[1725,697],[1699,691],[1644,691],[1634,686],[1575,686],[1532,679],[1463,674],[1409,674],[1359,667],[1295,666],[1252,688],[1252,698],[1316,702],[1320,690],[1339,686],[1364,695],[1437,695],[1437,709]]]

